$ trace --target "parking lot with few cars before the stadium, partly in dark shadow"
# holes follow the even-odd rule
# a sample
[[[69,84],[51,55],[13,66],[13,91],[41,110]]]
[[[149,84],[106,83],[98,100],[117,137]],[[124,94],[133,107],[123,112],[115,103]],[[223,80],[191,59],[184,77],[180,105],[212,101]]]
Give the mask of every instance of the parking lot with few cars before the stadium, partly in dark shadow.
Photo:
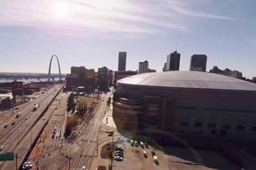
[[[194,150],[187,148],[164,147],[161,152],[149,146],[149,148],[142,148],[131,146],[130,143],[122,143],[124,149],[123,161],[113,161],[112,169],[239,169],[232,164],[228,159],[220,156],[213,151]],[[143,151],[147,152],[147,157],[143,155]],[[152,159],[151,151],[154,151],[158,163]],[[201,164],[207,164],[202,166]]]

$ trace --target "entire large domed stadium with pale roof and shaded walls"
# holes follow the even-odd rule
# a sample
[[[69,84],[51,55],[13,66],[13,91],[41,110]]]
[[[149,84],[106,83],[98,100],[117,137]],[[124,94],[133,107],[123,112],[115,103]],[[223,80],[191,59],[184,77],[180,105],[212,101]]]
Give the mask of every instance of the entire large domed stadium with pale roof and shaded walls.
[[[256,84],[214,73],[144,73],[117,81],[117,127],[256,137]]]

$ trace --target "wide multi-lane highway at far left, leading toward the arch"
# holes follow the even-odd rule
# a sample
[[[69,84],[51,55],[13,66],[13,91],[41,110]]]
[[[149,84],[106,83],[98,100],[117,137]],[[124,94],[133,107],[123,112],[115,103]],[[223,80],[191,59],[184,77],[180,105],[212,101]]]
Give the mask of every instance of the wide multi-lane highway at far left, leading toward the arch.
[[[11,129],[8,129],[9,131],[0,139],[1,145],[6,146],[1,153],[18,153],[19,165],[22,164],[23,158],[31,148],[32,142],[38,136],[41,128],[45,125],[45,121],[41,121],[42,118],[38,122],[37,120],[43,110],[55,97],[56,94],[53,95],[53,92],[56,93],[56,89],[60,90],[60,88],[56,87],[57,86],[51,88],[47,94],[42,95],[38,100],[28,103],[26,106],[27,112],[23,111],[22,116],[17,118],[16,124],[14,124]],[[33,112],[32,109],[35,103],[39,103],[40,107],[37,111]],[[28,117],[28,119],[25,119],[26,117]],[[34,124],[35,126],[33,126]],[[16,164],[12,161],[0,162],[0,169],[16,169]]]

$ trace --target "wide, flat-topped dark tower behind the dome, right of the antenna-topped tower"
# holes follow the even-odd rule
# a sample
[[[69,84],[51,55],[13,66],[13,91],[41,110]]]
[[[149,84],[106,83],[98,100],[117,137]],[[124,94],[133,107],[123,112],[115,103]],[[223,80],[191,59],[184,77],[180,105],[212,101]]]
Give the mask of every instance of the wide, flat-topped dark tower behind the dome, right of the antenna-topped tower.
[[[190,58],[190,71],[206,71],[207,56],[205,54],[194,54]]]

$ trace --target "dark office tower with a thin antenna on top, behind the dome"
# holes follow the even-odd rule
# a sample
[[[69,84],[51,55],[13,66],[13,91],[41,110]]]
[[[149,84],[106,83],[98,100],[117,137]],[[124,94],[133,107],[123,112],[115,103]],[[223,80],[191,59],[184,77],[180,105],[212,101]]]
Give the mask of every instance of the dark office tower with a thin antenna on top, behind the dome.
[[[180,53],[176,51],[167,56],[166,71],[175,71],[180,69]]]

